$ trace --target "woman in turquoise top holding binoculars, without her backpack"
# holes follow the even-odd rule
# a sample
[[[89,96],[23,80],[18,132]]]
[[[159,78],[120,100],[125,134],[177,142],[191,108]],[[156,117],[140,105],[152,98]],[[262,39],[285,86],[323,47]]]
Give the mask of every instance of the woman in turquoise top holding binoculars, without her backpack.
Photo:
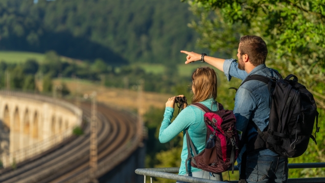
[[[196,69],[192,74],[192,83],[192,91],[194,93],[192,103],[200,102],[207,106],[210,110],[216,111],[217,105],[211,105],[212,103],[215,103],[215,99],[217,97],[217,76],[215,71],[209,67]],[[195,151],[197,154],[199,154],[206,146],[207,127],[204,122],[203,111],[193,106],[186,106],[186,104],[184,106],[184,110],[178,114],[173,123],[171,123],[170,120],[173,117],[174,106],[175,96],[169,98],[166,102],[166,109],[163,115],[164,118],[159,132],[159,140],[161,143],[166,143],[176,137],[179,133],[183,132],[183,150],[181,155],[182,162],[179,175],[186,175],[185,161],[187,159],[187,144],[185,129],[188,129],[187,132],[193,141]],[[187,162],[187,172],[187,176],[222,181],[221,173],[213,174],[192,167],[190,161]],[[177,183],[183,182],[177,181]]]

